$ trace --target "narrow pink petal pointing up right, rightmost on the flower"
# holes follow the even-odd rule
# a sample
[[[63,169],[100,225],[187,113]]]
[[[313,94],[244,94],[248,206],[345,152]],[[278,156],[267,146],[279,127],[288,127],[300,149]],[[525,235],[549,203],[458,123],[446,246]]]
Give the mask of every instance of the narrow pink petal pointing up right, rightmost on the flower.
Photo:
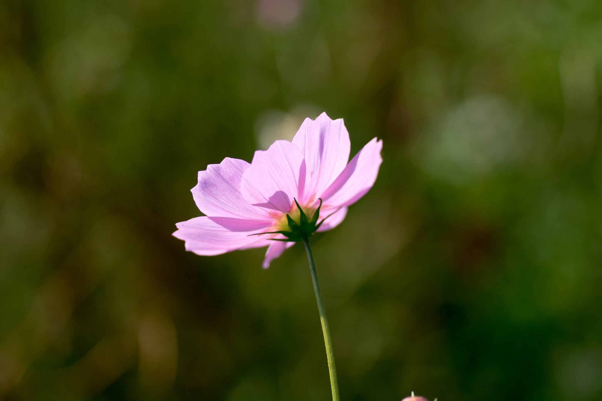
[[[363,197],[372,188],[382,158],[382,139],[368,142],[362,150],[347,164],[345,170],[321,194],[324,204],[330,206],[349,206]]]

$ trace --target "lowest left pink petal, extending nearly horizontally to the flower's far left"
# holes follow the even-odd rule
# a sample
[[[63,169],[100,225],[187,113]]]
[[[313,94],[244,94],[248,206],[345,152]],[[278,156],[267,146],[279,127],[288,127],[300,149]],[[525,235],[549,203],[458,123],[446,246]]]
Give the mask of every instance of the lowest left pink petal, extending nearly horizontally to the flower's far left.
[[[249,231],[230,231],[207,216],[179,222],[176,227],[178,231],[172,235],[184,240],[186,250],[197,255],[219,255],[235,249],[259,248],[272,242],[263,236],[248,236]]]

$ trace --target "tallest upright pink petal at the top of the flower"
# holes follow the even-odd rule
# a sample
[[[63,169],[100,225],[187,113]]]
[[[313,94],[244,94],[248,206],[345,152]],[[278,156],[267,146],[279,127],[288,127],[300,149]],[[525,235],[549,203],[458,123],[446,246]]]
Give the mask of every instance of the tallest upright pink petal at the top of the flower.
[[[343,118],[330,120],[326,113],[306,118],[293,138],[305,158],[305,197],[320,194],[341,174],[349,161],[349,133]],[[305,201],[306,199],[299,200]]]

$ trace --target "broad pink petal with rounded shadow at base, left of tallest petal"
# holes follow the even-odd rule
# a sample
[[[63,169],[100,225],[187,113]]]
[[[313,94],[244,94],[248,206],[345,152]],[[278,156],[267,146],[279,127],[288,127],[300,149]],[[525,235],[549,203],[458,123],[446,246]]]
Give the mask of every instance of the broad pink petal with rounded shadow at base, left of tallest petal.
[[[288,213],[293,198],[305,188],[305,161],[297,145],[279,140],[268,150],[257,150],[243,173],[241,194],[253,206]]]

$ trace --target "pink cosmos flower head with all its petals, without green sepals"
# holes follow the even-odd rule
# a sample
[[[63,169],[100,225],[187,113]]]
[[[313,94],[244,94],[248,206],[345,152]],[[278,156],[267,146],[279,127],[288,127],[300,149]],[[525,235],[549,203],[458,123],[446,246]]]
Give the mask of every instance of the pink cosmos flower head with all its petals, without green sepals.
[[[287,214],[299,222],[295,200],[308,216],[318,209],[318,228],[337,227],[347,206],[364,196],[376,180],[382,158],[382,139],[372,139],[349,161],[349,133],[343,119],[330,120],[322,113],[306,118],[293,142],[275,141],[268,150],[257,150],[249,164],[225,158],[199,171],[191,189],[194,201],[206,216],[176,224],[176,238],[187,251],[213,256],[236,249],[268,246],[263,268],[281,256],[294,242],[281,242],[288,230]]]

